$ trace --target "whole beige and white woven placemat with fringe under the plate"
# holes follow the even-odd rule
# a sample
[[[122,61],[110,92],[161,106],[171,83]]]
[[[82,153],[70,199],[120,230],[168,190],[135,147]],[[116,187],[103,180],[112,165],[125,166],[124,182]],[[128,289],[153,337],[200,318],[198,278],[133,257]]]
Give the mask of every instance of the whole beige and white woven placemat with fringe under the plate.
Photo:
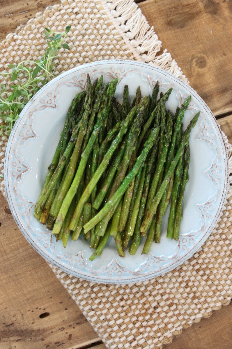
[[[101,59],[131,59],[161,67],[188,83],[132,0],[63,0],[39,13],[0,44],[2,68],[42,55],[44,27],[71,25],[58,72]],[[232,172],[232,147],[224,135]],[[3,174],[7,137],[0,141]],[[192,258],[166,275],[129,285],[97,284],[52,268],[107,348],[161,348],[232,298],[231,179],[219,221]],[[5,195],[4,179],[0,190]]]

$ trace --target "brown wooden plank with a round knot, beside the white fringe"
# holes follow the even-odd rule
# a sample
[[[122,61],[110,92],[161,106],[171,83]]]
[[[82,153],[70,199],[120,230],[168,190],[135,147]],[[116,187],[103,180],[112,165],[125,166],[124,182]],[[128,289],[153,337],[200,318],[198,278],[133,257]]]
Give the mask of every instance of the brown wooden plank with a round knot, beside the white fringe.
[[[138,5],[212,112],[231,112],[232,1],[147,0]]]

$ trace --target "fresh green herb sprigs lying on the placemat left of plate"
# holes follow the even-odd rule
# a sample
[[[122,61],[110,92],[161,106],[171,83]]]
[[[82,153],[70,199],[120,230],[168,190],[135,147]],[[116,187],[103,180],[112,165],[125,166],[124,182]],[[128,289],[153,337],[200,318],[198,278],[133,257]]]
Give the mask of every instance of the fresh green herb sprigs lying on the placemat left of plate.
[[[55,76],[58,50],[61,47],[70,50],[64,42],[70,28],[68,25],[62,33],[45,28],[48,48],[44,55],[38,60],[24,60],[17,65],[8,64],[10,70],[2,73],[3,76],[9,76],[10,81],[9,84],[0,84],[0,118],[3,120],[0,125],[1,134],[10,134],[24,106]]]

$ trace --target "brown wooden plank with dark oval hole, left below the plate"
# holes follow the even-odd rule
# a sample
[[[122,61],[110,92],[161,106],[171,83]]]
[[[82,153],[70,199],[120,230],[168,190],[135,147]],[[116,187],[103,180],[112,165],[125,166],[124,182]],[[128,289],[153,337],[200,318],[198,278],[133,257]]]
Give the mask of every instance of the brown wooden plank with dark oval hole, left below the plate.
[[[51,268],[23,237],[2,194],[0,222],[0,348],[78,349],[100,341]]]

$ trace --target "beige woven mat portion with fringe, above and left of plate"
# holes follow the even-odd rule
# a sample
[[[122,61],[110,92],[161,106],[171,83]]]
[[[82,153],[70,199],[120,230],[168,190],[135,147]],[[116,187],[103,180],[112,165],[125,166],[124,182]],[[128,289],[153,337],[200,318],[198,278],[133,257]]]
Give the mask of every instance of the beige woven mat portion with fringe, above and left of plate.
[[[57,73],[96,60],[130,59],[154,64],[187,82],[171,54],[167,50],[160,53],[158,36],[133,0],[62,0],[47,8],[0,43],[0,71],[8,64],[38,59],[46,49],[44,27],[62,32],[66,25],[71,25],[67,38],[71,50],[60,51]],[[0,80],[7,84],[5,77]],[[6,141],[2,137],[1,142]],[[3,158],[1,152],[1,175]],[[3,180],[0,190],[5,194]]]

